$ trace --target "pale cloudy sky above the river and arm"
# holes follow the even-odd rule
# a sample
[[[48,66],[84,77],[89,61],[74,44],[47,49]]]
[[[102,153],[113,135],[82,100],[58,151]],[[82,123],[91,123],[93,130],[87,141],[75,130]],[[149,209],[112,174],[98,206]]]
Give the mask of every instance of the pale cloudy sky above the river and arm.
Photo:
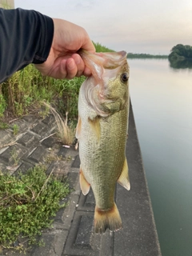
[[[14,0],[86,29],[91,40],[127,53],[170,54],[192,46],[192,0]]]

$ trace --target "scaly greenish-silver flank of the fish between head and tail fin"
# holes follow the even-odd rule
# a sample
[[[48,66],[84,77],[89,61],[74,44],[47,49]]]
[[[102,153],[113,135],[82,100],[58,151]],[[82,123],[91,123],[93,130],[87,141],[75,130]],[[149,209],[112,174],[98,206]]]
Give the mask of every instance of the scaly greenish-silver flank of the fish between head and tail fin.
[[[89,111],[87,112],[89,113]],[[95,199],[96,204],[101,209],[110,208],[111,204],[114,203],[115,183],[121,174],[125,160],[126,112],[126,109],[121,110],[110,117],[100,119],[101,138],[99,143],[87,119],[82,120],[82,142],[79,144],[81,166],[87,182],[92,184],[94,194],[98,194]],[[122,124],[122,120],[125,123]],[[118,122],[118,126],[115,126],[114,122]],[[105,176],[103,176],[103,172]],[[111,180],[114,181],[112,186]],[[105,187],[108,189],[103,190]]]

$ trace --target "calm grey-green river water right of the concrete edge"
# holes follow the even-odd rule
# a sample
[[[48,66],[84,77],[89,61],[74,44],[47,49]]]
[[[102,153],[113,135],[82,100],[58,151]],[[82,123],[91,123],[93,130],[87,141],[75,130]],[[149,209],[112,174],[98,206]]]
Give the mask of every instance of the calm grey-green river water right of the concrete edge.
[[[192,70],[175,70],[166,59],[128,62],[162,256],[192,256]]]

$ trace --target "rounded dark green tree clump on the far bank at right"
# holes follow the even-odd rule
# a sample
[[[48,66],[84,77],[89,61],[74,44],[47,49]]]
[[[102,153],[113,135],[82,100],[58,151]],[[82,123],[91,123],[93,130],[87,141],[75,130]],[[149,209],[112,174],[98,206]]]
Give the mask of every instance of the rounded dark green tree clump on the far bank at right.
[[[183,46],[182,44],[178,44],[174,46],[169,55],[170,61],[182,61],[184,59],[191,59],[192,61],[192,46]]]

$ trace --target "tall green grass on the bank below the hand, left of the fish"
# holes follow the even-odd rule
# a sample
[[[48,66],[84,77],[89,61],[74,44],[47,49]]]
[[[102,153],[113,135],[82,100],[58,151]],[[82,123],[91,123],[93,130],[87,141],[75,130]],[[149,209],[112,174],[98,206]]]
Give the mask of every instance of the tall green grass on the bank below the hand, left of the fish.
[[[0,117],[22,117],[40,106],[42,100],[55,102],[61,112],[78,116],[78,90],[85,77],[72,80],[57,80],[42,77],[33,65],[18,71],[6,82],[0,91]]]

